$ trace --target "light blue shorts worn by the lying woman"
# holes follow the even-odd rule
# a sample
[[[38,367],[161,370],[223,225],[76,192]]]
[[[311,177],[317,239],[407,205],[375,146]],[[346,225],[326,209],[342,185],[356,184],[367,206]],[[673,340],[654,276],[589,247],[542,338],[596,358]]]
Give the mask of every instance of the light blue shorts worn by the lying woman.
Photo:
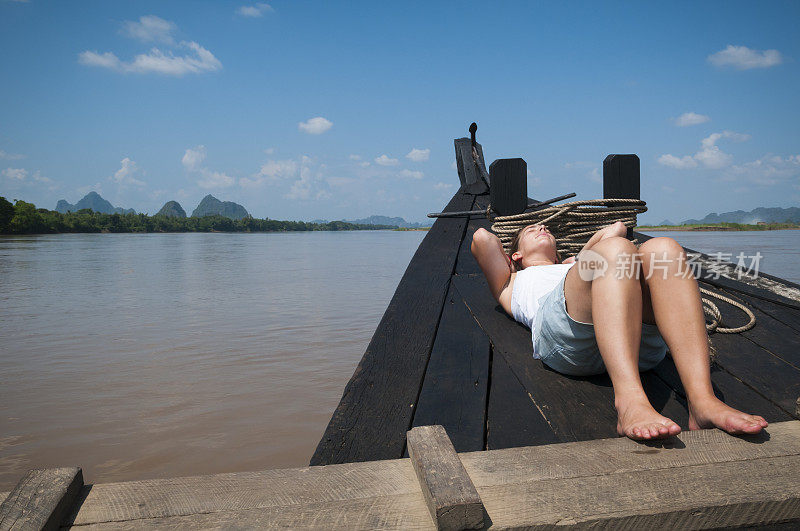
[[[542,362],[562,374],[590,376],[603,374],[606,367],[597,346],[594,325],[574,320],[567,313],[564,281],[539,301],[536,314],[534,349]],[[647,371],[661,363],[667,355],[667,344],[658,327],[642,323],[639,345],[639,370]]]

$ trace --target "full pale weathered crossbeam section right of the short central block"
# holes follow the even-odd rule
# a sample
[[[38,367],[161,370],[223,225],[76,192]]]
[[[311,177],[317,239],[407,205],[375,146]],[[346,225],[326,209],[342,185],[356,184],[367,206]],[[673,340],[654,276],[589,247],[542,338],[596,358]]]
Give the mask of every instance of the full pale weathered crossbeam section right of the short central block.
[[[493,528],[757,525],[800,516],[800,422],[767,431],[698,430],[644,444],[617,438],[459,457]]]

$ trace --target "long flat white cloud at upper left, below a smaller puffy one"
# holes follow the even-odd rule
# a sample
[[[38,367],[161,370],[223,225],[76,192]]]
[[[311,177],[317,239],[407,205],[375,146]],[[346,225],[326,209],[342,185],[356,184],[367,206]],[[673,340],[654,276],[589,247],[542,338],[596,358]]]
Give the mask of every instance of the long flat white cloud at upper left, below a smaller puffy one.
[[[133,60],[125,62],[113,52],[86,50],[78,54],[78,62],[122,73],[156,73],[167,76],[216,72],[222,68],[222,63],[214,54],[194,41],[181,41],[176,47],[188,50],[189,53],[175,55],[171,50],[164,52],[159,48],[152,48],[149,53],[139,54]]]

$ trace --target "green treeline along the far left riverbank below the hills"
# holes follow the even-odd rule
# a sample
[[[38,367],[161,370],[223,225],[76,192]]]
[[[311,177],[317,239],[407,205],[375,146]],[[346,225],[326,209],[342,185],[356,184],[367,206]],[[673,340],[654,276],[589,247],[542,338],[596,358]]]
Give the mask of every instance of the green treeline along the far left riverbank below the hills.
[[[331,221],[277,221],[274,219],[244,218],[233,220],[223,216],[176,218],[147,214],[101,214],[84,208],[61,214],[32,203],[12,204],[0,197],[0,233],[55,234],[62,232],[288,232],[312,230],[375,230],[394,229],[394,225],[362,225]]]

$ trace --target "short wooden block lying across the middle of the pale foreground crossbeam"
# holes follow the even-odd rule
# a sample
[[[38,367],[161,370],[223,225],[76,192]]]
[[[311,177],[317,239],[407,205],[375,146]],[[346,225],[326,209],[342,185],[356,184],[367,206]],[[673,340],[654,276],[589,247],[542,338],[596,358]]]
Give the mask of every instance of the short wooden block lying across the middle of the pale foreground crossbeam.
[[[437,529],[482,528],[483,503],[444,428],[413,428],[408,453]]]

